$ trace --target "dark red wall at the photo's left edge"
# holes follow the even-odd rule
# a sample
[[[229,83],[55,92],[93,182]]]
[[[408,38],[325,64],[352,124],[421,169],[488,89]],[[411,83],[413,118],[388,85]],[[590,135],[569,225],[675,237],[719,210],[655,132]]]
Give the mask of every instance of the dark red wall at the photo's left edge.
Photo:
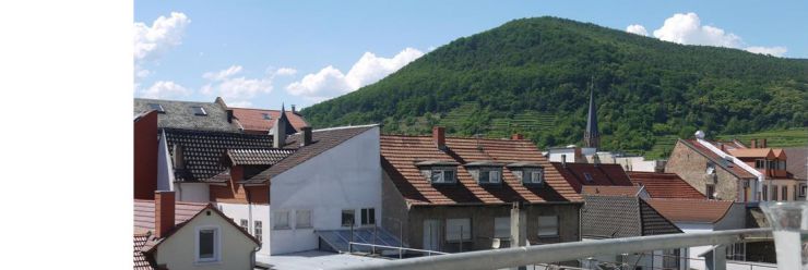
[[[157,191],[157,112],[151,111],[134,122],[134,198],[154,199]]]

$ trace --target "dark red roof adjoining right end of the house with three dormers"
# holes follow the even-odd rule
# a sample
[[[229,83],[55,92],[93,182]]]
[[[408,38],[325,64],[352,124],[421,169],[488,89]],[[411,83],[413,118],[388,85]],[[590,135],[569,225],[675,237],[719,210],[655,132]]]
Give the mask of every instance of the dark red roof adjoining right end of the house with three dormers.
[[[593,163],[561,163],[552,162],[552,165],[561,173],[561,176],[570,183],[577,193],[581,193],[582,186],[632,186],[626,171],[620,164],[593,164]],[[590,175],[592,181],[586,179]]]

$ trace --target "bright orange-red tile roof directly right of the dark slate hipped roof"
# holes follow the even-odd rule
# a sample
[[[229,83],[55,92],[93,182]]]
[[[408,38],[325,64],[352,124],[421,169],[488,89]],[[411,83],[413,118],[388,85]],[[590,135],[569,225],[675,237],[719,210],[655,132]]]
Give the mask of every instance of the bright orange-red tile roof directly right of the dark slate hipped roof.
[[[646,201],[674,222],[715,223],[721,221],[733,206],[730,200],[712,199],[647,199]]]

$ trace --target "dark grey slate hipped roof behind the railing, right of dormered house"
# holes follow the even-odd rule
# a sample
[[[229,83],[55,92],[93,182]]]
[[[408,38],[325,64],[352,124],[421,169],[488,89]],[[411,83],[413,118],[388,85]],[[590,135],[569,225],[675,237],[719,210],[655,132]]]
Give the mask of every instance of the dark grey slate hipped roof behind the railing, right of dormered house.
[[[681,233],[640,197],[584,195],[581,231],[587,238]]]

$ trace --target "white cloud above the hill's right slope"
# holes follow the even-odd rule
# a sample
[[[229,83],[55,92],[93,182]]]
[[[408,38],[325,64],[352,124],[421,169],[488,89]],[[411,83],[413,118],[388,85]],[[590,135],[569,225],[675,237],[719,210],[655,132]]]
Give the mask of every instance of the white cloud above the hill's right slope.
[[[629,28],[631,26],[633,25],[630,25]],[[627,30],[630,32],[628,28]],[[687,14],[676,13],[666,19],[663,26],[654,30],[654,37],[661,40],[684,45],[708,45],[737,48],[754,53],[765,53],[776,57],[782,57],[787,51],[785,47],[747,47],[738,35],[715,26],[702,25],[699,15],[693,12]]]

